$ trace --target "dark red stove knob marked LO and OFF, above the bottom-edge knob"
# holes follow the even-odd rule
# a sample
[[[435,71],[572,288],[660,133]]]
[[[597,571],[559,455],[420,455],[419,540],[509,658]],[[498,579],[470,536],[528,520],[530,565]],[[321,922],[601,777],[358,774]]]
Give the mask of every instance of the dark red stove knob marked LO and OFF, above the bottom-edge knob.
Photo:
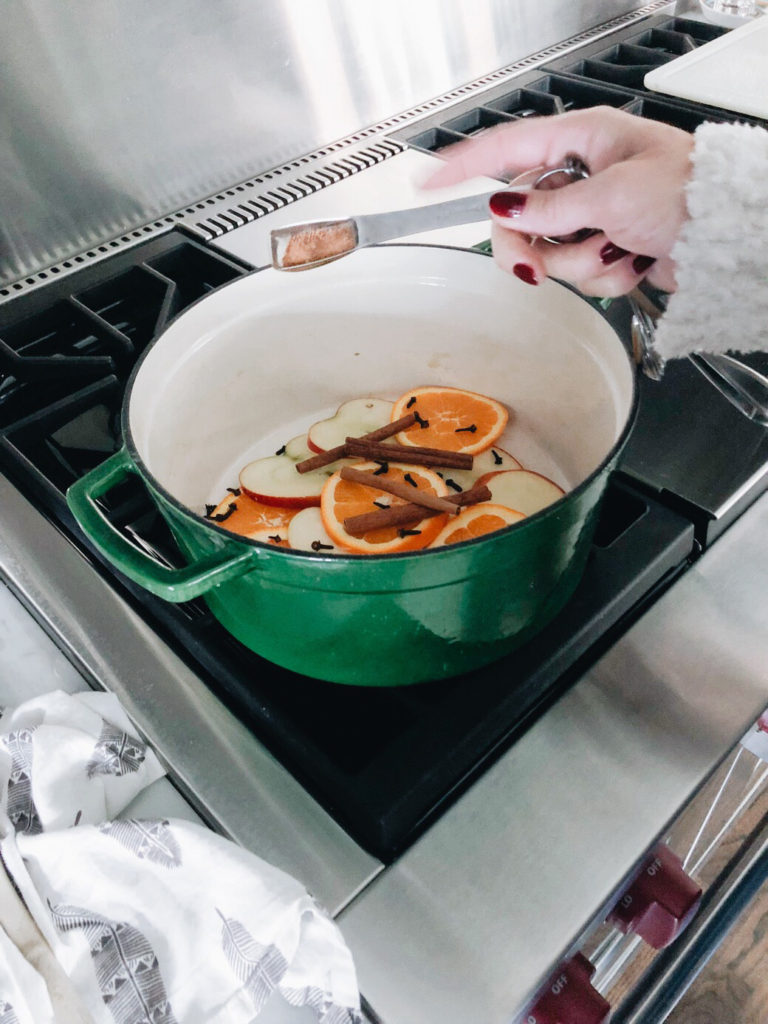
[[[646,858],[635,881],[608,914],[622,932],[634,932],[663,949],[696,912],[701,890],[683,870],[680,858],[660,843]]]

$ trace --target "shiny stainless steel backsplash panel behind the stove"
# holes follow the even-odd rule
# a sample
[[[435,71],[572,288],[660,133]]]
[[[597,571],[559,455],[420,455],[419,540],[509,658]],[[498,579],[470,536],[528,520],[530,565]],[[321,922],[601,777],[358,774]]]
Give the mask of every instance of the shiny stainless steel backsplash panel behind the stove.
[[[222,189],[642,7],[6,4],[0,284],[199,220]]]

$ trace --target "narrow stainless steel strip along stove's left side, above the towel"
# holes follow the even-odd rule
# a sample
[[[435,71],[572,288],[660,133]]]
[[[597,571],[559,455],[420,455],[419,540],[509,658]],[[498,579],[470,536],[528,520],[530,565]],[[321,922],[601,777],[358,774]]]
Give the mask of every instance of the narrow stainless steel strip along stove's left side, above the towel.
[[[0,578],[91,684],[117,694],[196,810],[332,912],[343,906],[380,863],[3,476],[0,508]]]

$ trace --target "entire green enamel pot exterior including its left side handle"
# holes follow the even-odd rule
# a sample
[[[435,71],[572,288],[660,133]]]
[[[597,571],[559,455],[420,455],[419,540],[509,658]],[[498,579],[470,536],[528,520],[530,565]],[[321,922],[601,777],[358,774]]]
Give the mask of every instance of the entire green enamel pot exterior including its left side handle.
[[[554,505],[488,537],[423,553],[324,556],[227,534],[146,470],[127,412],[126,450],[75,484],[68,499],[121,571],[167,600],[203,595],[221,625],[268,660],[333,682],[397,686],[493,662],[560,610],[583,573],[633,415],[634,397],[602,463]],[[147,485],[186,569],[160,566],[101,517],[99,495],[127,474]]]

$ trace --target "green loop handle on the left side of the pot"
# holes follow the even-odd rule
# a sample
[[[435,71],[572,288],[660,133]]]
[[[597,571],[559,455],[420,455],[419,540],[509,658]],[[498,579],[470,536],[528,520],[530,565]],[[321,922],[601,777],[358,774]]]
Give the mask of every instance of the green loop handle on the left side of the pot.
[[[73,483],[67,492],[67,504],[85,536],[129,580],[157,597],[178,603],[200,597],[212,587],[243,575],[254,567],[253,553],[246,551],[234,556],[212,556],[182,569],[171,569],[134,547],[97,505],[102,495],[131,474],[139,476],[131,457],[125,449],[121,449]]]

